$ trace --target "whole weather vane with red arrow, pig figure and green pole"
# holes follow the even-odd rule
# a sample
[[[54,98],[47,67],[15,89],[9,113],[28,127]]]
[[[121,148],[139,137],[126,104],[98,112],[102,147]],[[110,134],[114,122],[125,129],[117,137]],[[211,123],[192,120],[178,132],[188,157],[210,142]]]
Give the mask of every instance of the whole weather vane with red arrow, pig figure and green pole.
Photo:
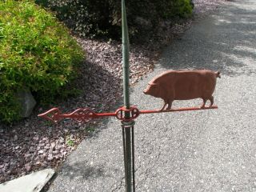
[[[70,114],[62,114],[58,108],[53,108],[46,113],[38,114],[51,122],[57,123],[64,118],[72,118],[77,122],[89,122],[93,118],[116,117],[122,122],[122,139],[125,164],[126,192],[135,191],[134,173],[134,119],[140,114],[153,114],[162,112],[177,112],[185,110],[210,110],[217,109],[213,106],[214,88],[216,78],[220,78],[219,72],[211,70],[169,70],[153,78],[144,94],[155,98],[162,98],[164,105],[160,110],[138,110],[136,106],[130,106],[129,87],[129,38],[126,21],[126,6],[122,0],[122,68],[123,68],[123,95],[124,106],[112,113],[95,113],[88,108],[74,110]],[[202,98],[203,104],[198,107],[172,109],[174,100],[187,100]],[[206,101],[210,100],[210,106],[206,107]]]

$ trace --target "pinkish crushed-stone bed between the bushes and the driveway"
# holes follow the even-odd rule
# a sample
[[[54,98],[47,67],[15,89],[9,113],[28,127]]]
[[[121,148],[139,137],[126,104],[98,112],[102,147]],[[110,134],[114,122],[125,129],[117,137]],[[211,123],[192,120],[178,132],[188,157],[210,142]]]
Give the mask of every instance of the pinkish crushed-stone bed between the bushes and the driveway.
[[[194,0],[194,20],[215,10],[220,2],[222,0]],[[163,22],[157,39],[152,38],[144,45],[131,45],[131,85],[154,70],[162,46],[180,37],[191,22],[191,19]],[[64,112],[78,107],[90,107],[98,112],[113,110],[122,98],[122,45],[80,38],[78,42],[87,53],[82,76],[76,83],[82,94],[56,105]],[[85,126],[66,120],[51,125],[37,117],[45,110],[38,107],[30,118],[11,126],[0,124],[0,183],[34,170],[59,166],[82,139],[97,132],[96,127],[103,123],[92,121]]]

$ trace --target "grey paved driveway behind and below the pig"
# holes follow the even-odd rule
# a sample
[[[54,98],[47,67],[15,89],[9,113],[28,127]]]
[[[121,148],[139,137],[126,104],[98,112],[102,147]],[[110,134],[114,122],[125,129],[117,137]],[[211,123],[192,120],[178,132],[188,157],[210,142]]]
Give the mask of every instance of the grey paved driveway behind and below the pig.
[[[162,105],[142,94],[169,69],[220,70],[218,110],[146,114],[136,119],[137,191],[256,191],[256,1],[226,2],[162,53],[132,90],[139,109]],[[174,102],[174,107],[202,101]],[[120,122],[108,119],[59,170],[49,191],[124,191]]]

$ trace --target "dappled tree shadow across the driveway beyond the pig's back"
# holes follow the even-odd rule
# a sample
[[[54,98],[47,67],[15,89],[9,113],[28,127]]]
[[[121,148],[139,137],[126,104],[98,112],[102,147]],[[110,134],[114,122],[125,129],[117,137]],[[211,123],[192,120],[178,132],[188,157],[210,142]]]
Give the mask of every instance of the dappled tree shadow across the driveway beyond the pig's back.
[[[254,2],[255,4],[255,2]],[[175,41],[162,55],[161,64],[170,70],[210,69],[236,76],[256,73],[256,10],[250,2],[232,2],[194,25],[181,40]]]

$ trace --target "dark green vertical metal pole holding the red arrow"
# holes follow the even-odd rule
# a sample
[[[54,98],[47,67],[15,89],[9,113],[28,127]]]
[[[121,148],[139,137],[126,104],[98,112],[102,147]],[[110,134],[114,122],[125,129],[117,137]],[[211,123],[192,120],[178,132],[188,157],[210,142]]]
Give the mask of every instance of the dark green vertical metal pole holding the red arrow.
[[[122,69],[124,106],[130,109],[129,87],[129,35],[126,20],[126,5],[122,0]],[[125,112],[125,118],[130,118],[130,112]],[[134,122],[122,122],[122,138],[124,147],[124,164],[126,172],[126,192],[135,191],[134,182]]]

